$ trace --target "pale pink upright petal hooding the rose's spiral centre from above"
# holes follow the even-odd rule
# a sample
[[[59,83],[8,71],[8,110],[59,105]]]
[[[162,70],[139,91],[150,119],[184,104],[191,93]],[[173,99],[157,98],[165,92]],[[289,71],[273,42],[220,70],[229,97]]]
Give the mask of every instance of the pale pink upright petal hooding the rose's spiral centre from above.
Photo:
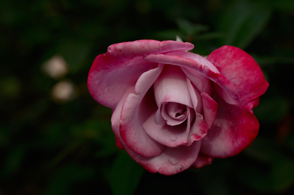
[[[154,82],[154,95],[158,108],[161,102],[176,102],[192,107],[186,75],[178,66],[165,65]]]

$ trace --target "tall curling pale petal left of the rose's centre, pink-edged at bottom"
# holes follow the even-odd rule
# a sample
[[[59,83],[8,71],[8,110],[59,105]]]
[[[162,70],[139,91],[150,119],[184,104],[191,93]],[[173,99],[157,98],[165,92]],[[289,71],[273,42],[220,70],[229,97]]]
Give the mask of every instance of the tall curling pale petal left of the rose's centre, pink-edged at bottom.
[[[142,127],[152,112],[157,110],[153,89],[150,87],[162,69],[163,65],[159,65],[158,68],[143,73],[136,83],[136,92],[126,97],[121,109],[121,138],[131,150],[144,157],[157,156],[164,148],[162,144],[149,137]]]

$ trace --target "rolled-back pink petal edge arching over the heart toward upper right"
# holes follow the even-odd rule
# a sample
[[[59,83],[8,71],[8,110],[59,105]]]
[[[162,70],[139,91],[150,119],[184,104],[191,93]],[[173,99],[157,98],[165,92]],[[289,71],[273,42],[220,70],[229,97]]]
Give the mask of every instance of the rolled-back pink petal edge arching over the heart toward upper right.
[[[178,51],[178,53],[180,55],[183,53],[183,51]],[[213,72],[206,65],[201,65],[200,63],[188,58],[183,58],[180,56],[169,56],[168,54],[149,55],[144,57],[144,59],[148,62],[158,62],[191,68],[192,70],[201,73],[202,75],[217,83],[220,86],[218,89],[219,94],[226,102],[234,105],[240,103],[240,97],[230,81],[228,81],[228,79],[223,75]]]

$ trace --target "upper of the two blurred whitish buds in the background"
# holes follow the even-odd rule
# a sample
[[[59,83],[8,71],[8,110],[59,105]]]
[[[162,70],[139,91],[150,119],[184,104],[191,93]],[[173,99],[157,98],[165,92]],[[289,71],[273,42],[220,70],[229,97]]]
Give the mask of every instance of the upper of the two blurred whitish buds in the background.
[[[58,54],[47,60],[43,64],[42,69],[47,75],[54,79],[62,78],[69,72],[66,61]]]

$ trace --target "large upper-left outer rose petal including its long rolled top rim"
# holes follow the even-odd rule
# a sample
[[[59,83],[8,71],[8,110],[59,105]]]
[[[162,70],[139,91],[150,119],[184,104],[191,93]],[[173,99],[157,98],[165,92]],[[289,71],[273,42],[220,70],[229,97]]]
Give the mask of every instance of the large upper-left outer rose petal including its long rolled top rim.
[[[140,57],[193,48],[191,43],[178,41],[138,40],[113,44],[94,60],[88,75],[89,92],[97,102],[115,108],[142,73],[157,67],[157,63],[148,63]]]

